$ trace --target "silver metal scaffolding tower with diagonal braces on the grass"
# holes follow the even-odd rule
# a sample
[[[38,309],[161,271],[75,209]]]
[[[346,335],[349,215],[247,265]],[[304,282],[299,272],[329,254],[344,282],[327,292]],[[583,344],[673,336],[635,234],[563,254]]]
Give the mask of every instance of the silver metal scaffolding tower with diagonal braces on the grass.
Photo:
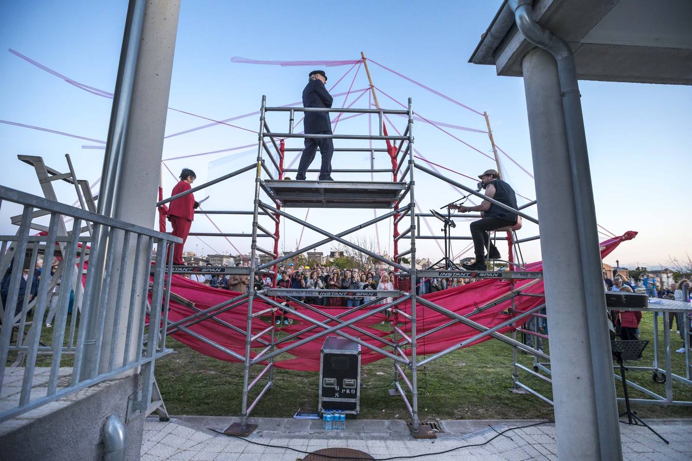
[[[295,113],[302,112],[316,112],[325,111],[330,113],[369,113],[379,116],[380,130],[379,133],[372,135],[359,135],[359,134],[305,134],[305,133],[295,133],[294,120]],[[269,128],[266,122],[267,113],[288,113],[289,115],[289,129],[285,133],[273,132]],[[383,127],[383,118],[386,115],[403,115],[407,118],[406,128],[397,135],[388,135],[386,129]],[[248,418],[250,417],[253,408],[262,399],[266,392],[272,388],[274,383],[274,359],[278,355],[284,352],[289,352],[294,348],[307,344],[310,341],[315,341],[325,337],[326,335],[338,335],[340,337],[349,339],[351,341],[360,344],[364,348],[373,350],[383,357],[392,359],[393,362],[393,373],[394,373],[394,391],[403,399],[403,403],[408,409],[408,413],[411,417],[410,429],[414,437],[428,436],[426,429],[421,427],[421,422],[419,421],[418,413],[418,370],[420,367],[425,366],[439,357],[453,352],[459,348],[467,346],[468,344],[473,344],[473,342],[486,337],[493,337],[503,341],[505,344],[527,352],[528,354],[535,355],[540,359],[549,360],[549,356],[544,352],[535,350],[530,346],[522,344],[514,338],[507,337],[498,330],[505,328],[507,326],[512,326],[517,321],[523,321],[527,317],[536,314],[538,310],[545,307],[545,304],[541,304],[536,308],[531,308],[527,312],[516,312],[513,309],[509,310],[509,319],[504,321],[498,326],[493,326],[488,328],[483,326],[476,321],[473,321],[471,317],[480,312],[503,303],[505,301],[511,301],[512,308],[514,307],[514,301],[517,297],[522,296],[538,296],[536,294],[525,293],[526,288],[530,288],[538,282],[538,279],[543,279],[543,272],[527,272],[525,270],[520,270],[519,265],[513,265],[512,267],[516,270],[504,270],[495,271],[488,270],[485,272],[468,272],[461,270],[446,270],[446,268],[441,268],[441,270],[417,270],[416,269],[416,240],[417,238],[426,239],[441,239],[442,236],[434,235],[421,235],[418,230],[418,219],[419,216],[432,216],[431,214],[420,214],[416,213],[416,202],[415,202],[415,173],[416,171],[423,171],[430,176],[433,176],[439,180],[443,180],[458,189],[466,191],[468,194],[473,194],[484,200],[489,200],[491,203],[498,205],[504,209],[509,209],[514,213],[522,216],[533,223],[537,223],[536,218],[529,216],[525,211],[520,211],[528,206],[535,205],[534,203],[529,203],[525,207],[520,209],[512,209],[507,205],[499,203],[493,199],[488,199],[484,194],[481,194],[474,189],[466,187],[459,182],[450,180],[435,171],[432,171],[426,167],[416,164],[415,161],[415,149],[414,149],[414,136],[413,136],[413,110],[412,102],[408,100],[408,109],[406,110],[389,110],[389,109],[347,109],[347,108],[329,108],[329,109],[318,109],[318,108],[302,108],[302,107],[270,107],[266,105],[266,97],[262,97],[262,107],[260,109],[260,130],[258,135],[258,147],[257,147],[257,159],[253,164],[249,164],[246,167],[242,167],[237,171],[231,173],[226,173],[224,176],[210,180],[203,185],[194,187],[190,191],[186,191],[183,194],[178,194],[177,196],[161,200],[157,205],[163,205],[170,200],[179,198],[185,194],[190,194],[194,191],[198,191],[209,187],[210,185],[215,185],[223,180],[233,178],[241,173],[248,171],[255,172],[255,188],[253,195],[253,210],[252,211],[197,211],[197,213],[208,213],[208,214],[228,214],[228,215],[249,215],[252,214],[252,233],[251,234],[229,234],[226,232],[218,233],[194,233],[190,235],[205,235],[205,236],[242,236],[251,238],[251,256],[249,262],[249,267],[211,267],[211,266],[178,266],[172,269],[174,273],[223,273],[223,274],[247,274],[250,283],[248,283],[248,288],[245,293],[239,296],[223,301],[217,305],[211,306],[201,310],[194,307],[194,303],[190,303],[187,300],[179,300],[188,305],[194,311],[194,314],[181,319],[179,321],[168,321],[167,322],[167,334],[174,332],[183,332],[185,334],[191,335],[192,337],[203,341],[205,344],[212,346],[216,350],[219,350],[236,361],[241,361],[244,364],[244,377],[243,377],[243,391],[242,391],[242,410],[241,410],[241,422],[239,424],[234,424],[227,429],[228,433],[236,433],[246,435],[253,431],[254,427],[252,424],[248,424]],[[339,173],[390,173],[391,180],[387,182],[362,182],[362,181],[296,181],[288,180],[284,178],[284,173],[288,171],[295,171],[293,169],[284,169],[284,155],[286,152],[293,151],[298,152],[302,149],[286,149],[284,141],[286,138],[333,138],[340,140],[379,140],[384,141],[387,144],[386,149],[377,148],[363,148],[363,147],[344,147],[335,149],[335,151],[343,152],[369,152],[371,157],[370,168],[369,169],[334,169],[334,172]],[[375,169],[374,161],[372,158],[375,153],[388,155],[391,160],[392,167],[390,169]],[[267,162],[266,159],[269,161]],[[313,171],[313,170],[309,170]],[[266,178],[263,178],[263,173]],[[354,225],[349,229],[345,229],[342,232],[336,234],[328,232],[316,225],[313,225],[307,220],[300,219],[293,216],[289,211],[291,209],[304,209],[310,207],[318,208],[336,208],[336,209],[385,209],[388,210],[385,214],[377,216],[371,220],[367,220],[364,223]],[[312,231],[324,236],[322,240],[309,243],[296,249],[294,252],[289,252],[280,256],[279,253],[279,225],[281,218],[292,221],[293,223],[298,223],[304,228],[311,229]],[[356,245],[347,240],[347,236],[358,230],[365,229],[375,223],[379,223],[383,220],[393,219],[393,232],[392,239],[394,242],[394,256],[392,258],[387,258],[376,254],[366,248]],[[262,223],[260,223],[262,220]],[[266,223],[265,220],[271,220],[274,224],[274,232],[271,232],[271,223]],[[399,224],[406,223],[408,220],[408,225],[405,229],[399,231]],[[260,238],[271,238],[273,240],[273,248],[265,248],[258,245]],[[470,239],[470,237],[456,237],[462,239]],[[537,239],[536,237],[525,238],[521,241],[531,241]],[[498,237],[498,240],[504,240],[504,237]],[[408,248],[399,250],[399,245],[403,245],[408,241]],[[513,241],[512,245],[517,245],[521,241]],[[309,250],[313,250],[316,247],[325,245],[327,243],[336,242],[348,247],[352,247],[358,252],[367,254],[373,258],[374,261],[381,261],[391,267],[394,267],[394,275],[397,279],[397,284],[394,285],[394,290],[313,290],[313,289],[293,289],[293,288],[276,288],[277,287],[277,265],[282,261],[289,260],[298,256]],[[271,258],[271,261],[266,263],[260,263],[259,254],[264,254]],[[406,256],[405,259],[404,257]],[[410,263],[404,263],[403,261],[410,261]],[[273,277],[273,287],[266,288],[256,286],[253,281],[255,280],[255,274],[269,274]],[[417,294],[417,285],[421,277],[445,277],[445,278],[456,278],[456,279],[503,279],[509,281],[511,290],[496,299],[493,299],[485,305],[479,306],[473,312],[460,315],[456,312],[448,310],[437,303],[433,303],[424,297]],[[534,282],[529,282],[520,288],[516,288],[515,283],[521,280],[526,281],[527,279],[536,279]],[[345,297],[345,296],[362,296],[362,297],[373,297],[373,299],[363,305],[349,309],[338,315],[331,315],[329,312],[320,309],[320,306],[309,305],[299,301],[297,298],[300,297]],[[281,298],[281,299],[277,299]],[[392,298],[392,302],[387,303],[386,299]],[[288,303],[281,303],[287,299],[291,301],[293,307]],[[255,301],[262,303],[262,309],[255,309]],[[384,303],[381,304],[380,303]],[[239,306],[247,307],[246,314],[246,325],[245,328],[239,328],[239,326],[233,326],[219,318],[218,314],[222,312],[227,312],[233,308],[239,308]],[[268,307],[267,307],[268,306]],[[295,308],[298,306],[298,308]],[[373,307],[374,306],[374,307]],[[300,309],[300,310],[298,310]],[[417,326],[417,311],[424,312],[424,310],[430,310],[443,314],[448,317],[448,321],[437,328],[433,328],[427,331],[419,331]],[[279,317],[279,313],[289,313],[292,316],[301,319],[307,326],[295,332],[291,335],[285,337],[277,337],[277,328],[275,326],[275,319]],[[305,311],[313,312],[318,314],[318,316],[324,321],[320,321],[316,318],[305,314]],[[392,316],[390,319],[390,335],[387,337],[379,337],[373,335],[371,332],[367,332],[362,328],[358,328],[356,323],[368,319],[369,317],[379,314],[381,312],[391,312]],[[357,314],[356,314],[357,313]],[[351,318],[352,314],[356,314],[355,317]],[[271,316],[271,323],[258,323],[253,321],[259,317]],[[345,320],[347,318],[347,320]],[[190,326],[210,319],[210,321],[215,321],[221,326],[229,328],[230,335],[242,336],[244,337],[244,351],[239,353],[235,350],[230,350],[217,344],[212,339],[203,337],[197,332],[190,330]],[[459,344],[450,346],[446,350],[442,350],[435,355],[430,355],[430,357],[419,357],[418,344],[419,341],[434,333],[443,330],[444,328],[450,326],[459,325],[459,323],[464,324],[470,328],[477,330],[477,335],[474,335],[471,339],[462,341]],[[259,325],[259,326],[258,326]],[[406,328],[408,326],[408,329]],[[358,332],[360,337],[354,335],[349,335],[347,332],[343,331],[345,328],[354,330]],[[315,331],[316,330],[316,331]],[[404,331],[406,330],[406,331]],[[364,340],[362,338],[367,338]],[[295,341],[292,344],[287,344],[288,341]],[[368,342],[368,341],[372,341]],[[286,345],[287,344],[287,345]],[[251,373],[257,365],[262,365],[262,368],[257,373]],[[263,385],[260,383],[264,383]],[[251,391],[255,386],[262,386],[261,390],[255,395],[251,396]]]

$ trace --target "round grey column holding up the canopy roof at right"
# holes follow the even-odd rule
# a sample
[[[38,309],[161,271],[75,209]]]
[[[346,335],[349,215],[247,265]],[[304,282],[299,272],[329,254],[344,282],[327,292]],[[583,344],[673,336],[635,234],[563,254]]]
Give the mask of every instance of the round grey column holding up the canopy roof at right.
[[[581,250],[578,245],[565,245],[565,241],[579,241],[579,232],[558,70],[555,59],[541,49],[524,58],[522,69],[548,322],[551,335],[560,338],[553,341],[550,350],[558,453],[570,458],[617,460],[622,453],[610,348],[606,344],[594,354],[590,347],[594,341],[607,341],[608,331],[603,338],[589,335],[590,321],[602,317],[605,327],[606,312],[605,308],[603,312],[589,308],[597,300],[585,297]],[[608,364],[608,375],[594,373],[600,362]],[[608,396],[605,400],[604,395]],[[575,421],[580,424],[575,425]],[[610,455],[603,457],[603,453]]]

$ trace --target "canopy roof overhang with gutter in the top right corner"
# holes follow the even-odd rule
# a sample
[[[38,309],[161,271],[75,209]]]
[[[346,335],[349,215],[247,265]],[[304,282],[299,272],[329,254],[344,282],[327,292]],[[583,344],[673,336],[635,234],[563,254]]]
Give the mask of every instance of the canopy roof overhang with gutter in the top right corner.
[[[538,0],[534,12],[541,26],[570,43],[579,79],[692,84],[689,0]],[[521,76],[522,58],[533,47],[505,0],[468,62]]]

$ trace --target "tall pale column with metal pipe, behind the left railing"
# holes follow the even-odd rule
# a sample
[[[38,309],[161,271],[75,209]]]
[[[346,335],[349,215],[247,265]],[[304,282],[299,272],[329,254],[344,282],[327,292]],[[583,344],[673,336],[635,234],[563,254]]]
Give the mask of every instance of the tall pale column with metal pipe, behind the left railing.
[[[152,210],[156,205],[161,170],[179,9],[180,2],[177,0],[130,1],[103,162],[103,179],[98,200],[99,214],[147,228],[154,224]],[[134,280],[141,279],[149,272],[150,255],[143,254],[143,251],[138,252],[143,248],[136,248],[134,242],[123,248],[120,232],[102,232],[99,238],[98,246],[101,249],[109,247],[115,250],[104,254],[104,258],[89,261],[90,272],[106,275],[104,269],[109,267],[108,261],[111,258],[120,261],[121,252],[129,252],[131,256],[137,255],[146,261],[146,264],[140,265],[140,274],[118,274],[118,269],[109,277],[111,287],[106,302],[111,304],[116,303],[120,276],[125,278],[125,296],[121,300],[123,310],[120,321],[126,323],[129,317],[127,313],[138,305],[138,300],[130,299],[129,287]],[[109,244],[111,238],[116,238],[115,245]],[[106,278],[104,277],[103,284]],[[98,306],[98,303],[93,301],[100,299],[101,290],[105,289],[100,285],[97,283],[91,292],[92,302],[89,305],[92,308]],[[85,360],[81,379],[89,379],[99,372],[98,357],[102,351],[105,355],[110,352],[111,341],[117,341],[116,350],[119,354],[123,353],[121,351],[125,350],[126,346],[130,348],[130,355],[141,348],[141,344],[125,345],[125,335],[113,337],[112,331],[115,329],[108,327],[115,321],[113,311],[110,310],[108,317],[104,319],[107,328],[103,330],[102,338],[98,337],[101,328],[97,316],[89,316],[89,322],[84,327]],[[135,315],[137,317],[140,314],[143,315],[138,311]],[[99,344],[101,350],[97,350]],[[108,363],[107,360],[101,361],[101,368],[105,369]]]

